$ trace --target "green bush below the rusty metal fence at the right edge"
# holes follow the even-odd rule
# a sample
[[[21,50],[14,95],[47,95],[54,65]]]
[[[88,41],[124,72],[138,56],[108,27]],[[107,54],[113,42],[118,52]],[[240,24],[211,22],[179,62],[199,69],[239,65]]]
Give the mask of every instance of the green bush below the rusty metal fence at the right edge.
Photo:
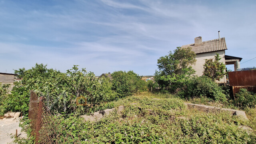
[[[239,92],[235,94],[235,104],[239,108],[255,108],[256,94],[248,92],[245,88],[240,88]]]

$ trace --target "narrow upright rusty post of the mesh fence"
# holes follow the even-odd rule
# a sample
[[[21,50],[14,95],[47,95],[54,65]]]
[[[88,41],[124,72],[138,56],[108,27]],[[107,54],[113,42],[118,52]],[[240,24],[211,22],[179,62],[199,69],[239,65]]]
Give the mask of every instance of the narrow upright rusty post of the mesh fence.
[[[38,113],[36,118],[36,144],[38,143],[39,136],[40,136],[39,131],[42,126],[43,99],[44,99],[44,96],[39,97]]]

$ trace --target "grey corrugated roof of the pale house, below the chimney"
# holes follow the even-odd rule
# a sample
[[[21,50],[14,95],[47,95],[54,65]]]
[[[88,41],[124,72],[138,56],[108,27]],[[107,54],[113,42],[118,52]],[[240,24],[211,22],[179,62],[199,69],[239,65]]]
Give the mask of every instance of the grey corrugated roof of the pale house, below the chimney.
[[[215,52],[219,50],[227,50],[226,40],[225,38],[215,39],[215,40],[208,40],[202,42],[202,44],[187,44],[182,46],[182,48],[192,48],[196,54],[205,53],[205,52]]]

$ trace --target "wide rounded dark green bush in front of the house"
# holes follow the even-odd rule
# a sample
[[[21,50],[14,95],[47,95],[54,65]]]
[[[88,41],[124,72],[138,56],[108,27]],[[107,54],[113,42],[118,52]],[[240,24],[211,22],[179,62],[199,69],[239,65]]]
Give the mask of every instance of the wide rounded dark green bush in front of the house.
[[[196,77],[186,83],[184,98],[208,97],[213,100],[226,101],[226,95],[218,84],[206,76]]]

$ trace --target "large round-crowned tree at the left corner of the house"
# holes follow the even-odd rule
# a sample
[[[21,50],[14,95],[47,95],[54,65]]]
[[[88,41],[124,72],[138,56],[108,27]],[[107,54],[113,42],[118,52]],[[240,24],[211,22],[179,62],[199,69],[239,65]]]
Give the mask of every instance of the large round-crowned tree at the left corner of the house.
[[[157,63],[159,71],[155,73],[155,80],[160,86],[181,86],[188,76],[195,73],[191,65],[196,63],[196,54],[191,48],[177,47],[174,53],[170,51],[168,55],[160,57]]]

